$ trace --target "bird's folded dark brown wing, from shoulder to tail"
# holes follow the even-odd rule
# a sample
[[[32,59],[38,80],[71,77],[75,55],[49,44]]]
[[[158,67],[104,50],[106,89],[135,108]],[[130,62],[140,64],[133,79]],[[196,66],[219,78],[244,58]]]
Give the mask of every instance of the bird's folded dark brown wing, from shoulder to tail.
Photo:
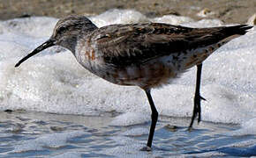
[[[245,34],[245,29],[236,32],[242,25],[231,27],[189,28],[159,23],[109,25],[93,32],[91,40],[106,63],[120,67],[206,47],[236,33]]]

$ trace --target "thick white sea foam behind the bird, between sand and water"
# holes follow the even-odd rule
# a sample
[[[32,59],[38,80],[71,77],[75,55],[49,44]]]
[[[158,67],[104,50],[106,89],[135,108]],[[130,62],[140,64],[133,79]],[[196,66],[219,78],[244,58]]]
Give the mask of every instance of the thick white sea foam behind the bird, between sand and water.
[[[130,17],[124,18],[127,14]],[[150,19],[138,11],[129,10],[113,10],[91,17],[97,25],[156,19],[167,22],[172,18],[178,20],[172,16]],[[15,26],[10,25],[12,21]],[[181,18],[181,21],[182,25],[190,26],[222,25],[219,20],[210,19],[192,22],[189,18]],[[49,38],[55,24],[56,18],[43,17],[0,22],[0,110],[25,109],[83,115],[117,111],[124,113],[112,122],[119,126],[150,120],[150,106],[143,90],[114,85],[92,75],[79,66],[69,51],[60,47],[46,49],[19,68],[14,68],[22,56]],[[256,31],[252,29],[204,62],[201,95],[207,98],[207,102],[201,103],[203,120],[238,124],[255,120],[255,40]],[[195,74],[195,68],[192,68],[173,84],[152,91],[161,115],[192,116]],[[132,121],[128,117],[133,118]],[[255,125],[251,126],[250,129],[255,129]]]

